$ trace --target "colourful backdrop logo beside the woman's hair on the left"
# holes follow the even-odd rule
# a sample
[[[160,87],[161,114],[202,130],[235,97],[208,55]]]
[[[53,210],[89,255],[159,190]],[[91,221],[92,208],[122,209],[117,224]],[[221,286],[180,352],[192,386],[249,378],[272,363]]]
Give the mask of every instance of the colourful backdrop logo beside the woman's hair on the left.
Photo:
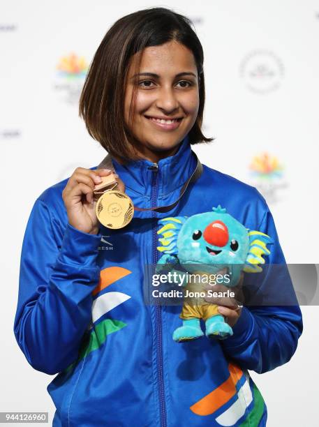
[[[87,75],[87,61],[74,53],[61,57],[57,63],[57,77],[54,90],[68,104],[76,105]]]

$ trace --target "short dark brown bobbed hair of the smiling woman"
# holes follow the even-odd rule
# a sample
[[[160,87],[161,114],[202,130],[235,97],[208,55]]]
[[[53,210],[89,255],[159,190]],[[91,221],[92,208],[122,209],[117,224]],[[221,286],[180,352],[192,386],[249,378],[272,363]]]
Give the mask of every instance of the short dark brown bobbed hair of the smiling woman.
[[[200,105],[198,117],[188,133],[189,142],[211,142],[202,134],[205,105],[204,53],[192,22],[168,8],[147,8],[121,17],[105,34],[92,60],[80,96],[79,116],[89,135],[101,143],[111,156],[126,161],[138,158],[130,147],[135,138],[124,120],[126,79],[131,57],[149,46],[176,40],[188,47],[198,69]],[[138,67],[140,67],[140,55]],[[133,90],[130,119],[135,102]]]

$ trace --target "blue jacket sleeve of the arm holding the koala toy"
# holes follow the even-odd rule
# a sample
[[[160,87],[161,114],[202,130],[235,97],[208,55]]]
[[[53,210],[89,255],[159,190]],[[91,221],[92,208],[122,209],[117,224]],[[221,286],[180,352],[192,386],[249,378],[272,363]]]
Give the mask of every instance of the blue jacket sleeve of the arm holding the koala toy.
[[[242,368],[264,373],[290,360],[297,348],[303,326],[302,313],[269,209],[265,212],[258,231],[265,232],[274,241],[271,254],[266,258],[268,264],[276,265],[272,274],[272,266],[268,266],[268,273],[265,274],[260,286],[262,294],[267,295],[271,292],[272,296],[265,298],[265,304],[244,306],[239,320],[233,327],[233,336],[223,340],[221,345],[225,354],[237,361]],[[276,270],[279,264],[281,268]],[[280,271],[280,274],[276,274],[276,271]],[[253,278],[256,275],[247,274],[250,276],[249,281],[257,280]],[[272,305],[276,299],[278,301],[287,299],[290,302],[287,305]],[[267,304],[267,301],[273,303]]]

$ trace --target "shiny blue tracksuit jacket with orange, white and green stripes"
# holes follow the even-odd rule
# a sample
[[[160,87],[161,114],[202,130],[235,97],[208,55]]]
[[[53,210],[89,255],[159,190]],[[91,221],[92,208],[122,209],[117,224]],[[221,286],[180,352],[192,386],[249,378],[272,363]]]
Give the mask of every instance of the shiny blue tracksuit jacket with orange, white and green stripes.
[[[177,199],[195,158],[186,136],[174,156],[159,160],[157,172],[148,160],[113,164],[133,203],[154,207]],[[299,306],[244,307],[230,338],[176,343],[181,306],[147,306],[143,299],[144,266],[161,256],[156,232],[165,216],[221,204],[247,228],[272,237],[266,262],[284,263],[260,193],[203,165],[172,211],[135,211],[128,226],[91,235],[68,223],[61,197],[67,181],[34,203],[14,321],[29,364],[58,374],[47,387],[57,407],[53,426],[265,426],[266,405],[248,370],[264,373],[289,361],[302,334]],[[289,285],[281,277],[280,287]]]

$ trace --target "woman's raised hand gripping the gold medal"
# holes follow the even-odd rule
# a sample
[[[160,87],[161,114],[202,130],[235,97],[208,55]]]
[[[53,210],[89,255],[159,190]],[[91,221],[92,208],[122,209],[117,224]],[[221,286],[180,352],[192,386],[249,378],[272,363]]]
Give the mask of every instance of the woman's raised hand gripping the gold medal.
[[[68,214],[68,222],[77,230],[89,234],[98,234],[100,223],[96,216],[96,202],[99,195],[94,194],[94,188],[103,182],[103,177],[112,174],[109,169],[85,169],[77,167],[66,183],[62,198]],[[116,189],[123,192],[125,185],[117,174]]]

